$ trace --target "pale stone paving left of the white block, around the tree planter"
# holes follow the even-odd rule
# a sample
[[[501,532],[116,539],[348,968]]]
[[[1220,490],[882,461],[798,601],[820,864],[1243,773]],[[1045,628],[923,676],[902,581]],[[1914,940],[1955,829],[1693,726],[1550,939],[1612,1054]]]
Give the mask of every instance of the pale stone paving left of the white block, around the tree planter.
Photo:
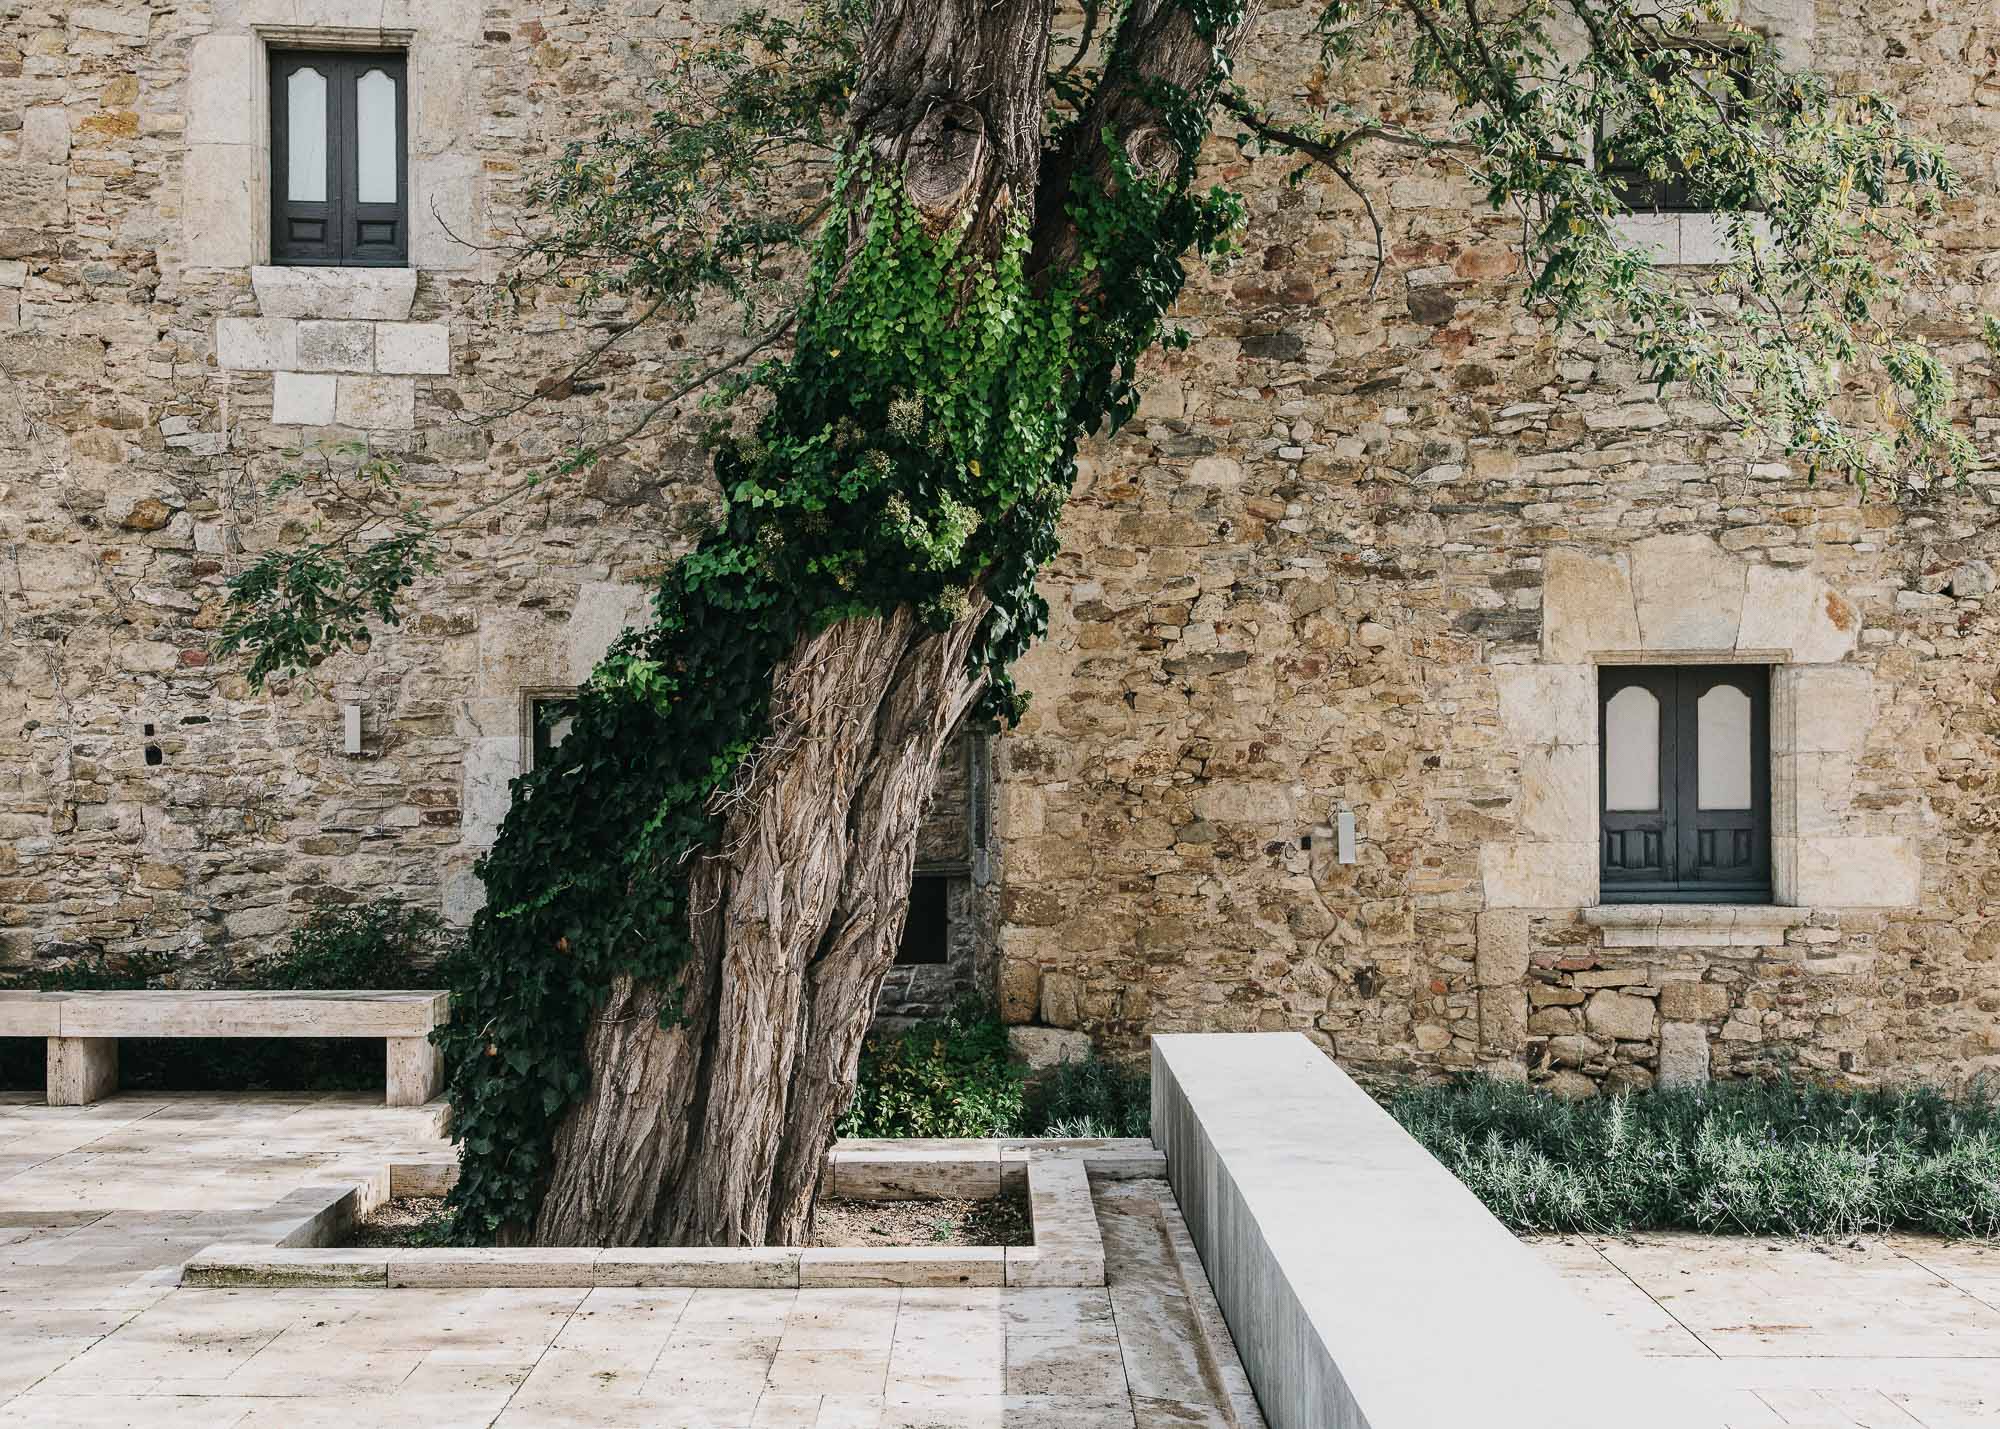
[[[436,1121],[328,1097],[0,1101],[0,1143],[20,1155],[0,1169],[8,1427],[1258,1429],[1220,1409],[1214,1351],[1176,1339],[1198,1319],[1158,1181],[1086,1191],[1116,1217],[1112,1287],[176,1289],[302,1187],[442,1157]]]

